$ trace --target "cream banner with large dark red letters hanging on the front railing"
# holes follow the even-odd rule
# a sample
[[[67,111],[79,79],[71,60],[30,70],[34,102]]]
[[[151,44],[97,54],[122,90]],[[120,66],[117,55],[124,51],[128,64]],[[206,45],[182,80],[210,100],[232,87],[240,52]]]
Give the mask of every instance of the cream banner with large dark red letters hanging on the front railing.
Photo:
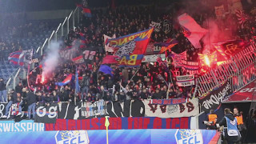
[[[145,117],[180,118],[195,116],[199,113],[198,98],[178,105],[151,104],[150,100],[144,100],[144,104]]]

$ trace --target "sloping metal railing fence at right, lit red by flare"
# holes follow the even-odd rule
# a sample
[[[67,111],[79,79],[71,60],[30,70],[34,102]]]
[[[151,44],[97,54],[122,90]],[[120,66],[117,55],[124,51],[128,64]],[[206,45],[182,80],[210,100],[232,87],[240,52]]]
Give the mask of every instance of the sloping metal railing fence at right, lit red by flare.
[[[197,78],[195,93],[199,97],[206,96],[226,81],[230,81],[233,91],[239,90],[256,78],[255,56],[256,45],[253,42],[229,61]]]

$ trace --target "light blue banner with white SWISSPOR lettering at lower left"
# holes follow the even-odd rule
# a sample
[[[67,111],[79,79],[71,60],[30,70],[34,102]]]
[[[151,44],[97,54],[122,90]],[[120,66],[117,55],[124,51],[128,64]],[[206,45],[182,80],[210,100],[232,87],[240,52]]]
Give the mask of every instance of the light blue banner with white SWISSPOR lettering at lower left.
[[[26,132],[26,131],[44,131],[44,130],[45,130],[44,123],[38,123],[32,120],[27,120],[22,122],[0,121],[0,132],[20,132],[20,131]]]

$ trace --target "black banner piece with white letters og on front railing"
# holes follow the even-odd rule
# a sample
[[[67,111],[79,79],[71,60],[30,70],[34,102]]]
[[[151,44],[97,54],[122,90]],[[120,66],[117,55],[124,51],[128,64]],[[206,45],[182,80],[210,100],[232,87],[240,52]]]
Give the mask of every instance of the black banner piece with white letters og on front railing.
[[[55,123],[58,115],[57,109],[57,103],[51,103],[50,106],[45,106],[44,103],[38,103],[34,122]]]

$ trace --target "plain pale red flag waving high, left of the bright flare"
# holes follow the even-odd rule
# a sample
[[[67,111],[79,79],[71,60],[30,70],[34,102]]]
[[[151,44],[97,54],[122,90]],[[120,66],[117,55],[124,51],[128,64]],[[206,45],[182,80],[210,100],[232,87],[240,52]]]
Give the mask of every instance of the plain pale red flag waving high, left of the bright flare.
[[[207,30],[199,26],[198,23],[186,13],[178,16],[178,22],[182,25],[185,36],[190,40],[191,44],[195,48],[200,48],[199,40],[207,33]]]

